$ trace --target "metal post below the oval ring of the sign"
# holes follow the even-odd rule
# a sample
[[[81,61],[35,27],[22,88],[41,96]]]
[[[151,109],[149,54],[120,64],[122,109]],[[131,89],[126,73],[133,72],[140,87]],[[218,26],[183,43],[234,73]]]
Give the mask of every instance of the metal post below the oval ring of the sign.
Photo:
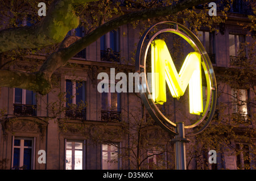
[[[171,140],[175,143],[175,167],[176,170],[186,170],[187,163],[185,143],[189,142],[189,140],[185,138],[184,123],[176,123],[176,125],[177,127],[175,128],[175,132],[178,134]]]

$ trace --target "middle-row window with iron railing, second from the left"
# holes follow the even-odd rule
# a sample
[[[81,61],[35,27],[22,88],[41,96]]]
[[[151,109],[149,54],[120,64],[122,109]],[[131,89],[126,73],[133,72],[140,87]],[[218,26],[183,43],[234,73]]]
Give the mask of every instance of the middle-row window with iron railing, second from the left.
[[[86,82],[66,80],[66,111],[65,116],[72,119],[86,119]]]

